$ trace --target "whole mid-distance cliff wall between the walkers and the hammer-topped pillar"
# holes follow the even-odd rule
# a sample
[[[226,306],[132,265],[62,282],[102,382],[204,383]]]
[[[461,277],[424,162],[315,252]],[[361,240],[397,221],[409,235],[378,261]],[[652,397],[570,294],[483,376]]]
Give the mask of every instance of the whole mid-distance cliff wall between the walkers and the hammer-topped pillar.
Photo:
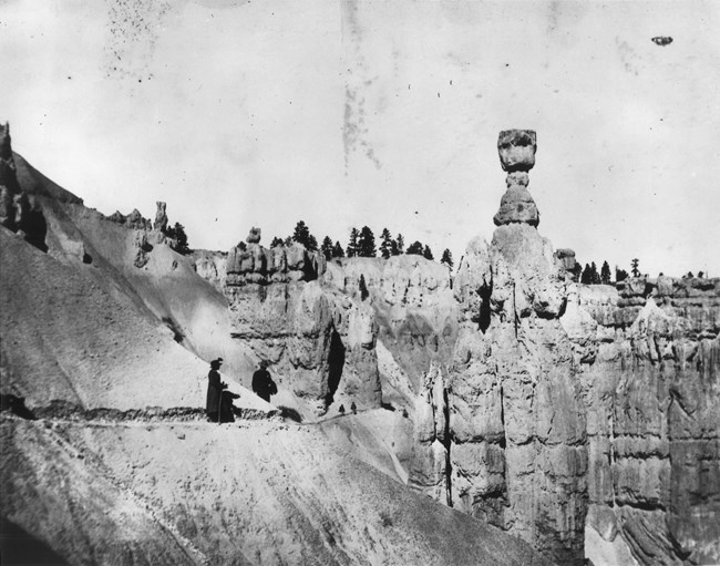
[[[196,270],[219,281],[213,263],[197,257]],[[230,250],[225,270],[233,337],[269,361],[280,389],[292,393],[280,391],[276,401],[301,405],[308,416],[351,403],[377,408],[383,393],[412,411],[432,360],[452,351],[448,269],[420,256],[326,263],[300,245],[267,249],[248,239]]]

